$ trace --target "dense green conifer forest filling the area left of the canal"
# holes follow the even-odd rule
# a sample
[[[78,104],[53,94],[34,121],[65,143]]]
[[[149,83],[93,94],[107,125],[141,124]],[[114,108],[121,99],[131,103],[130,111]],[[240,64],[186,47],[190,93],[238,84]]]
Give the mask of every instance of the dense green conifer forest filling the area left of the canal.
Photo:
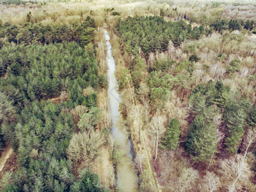
[[[95,107],[96,93],[83,95],[86,87],[106,86],[94,55],[94,20],[87,17],[81,25],[41,26],[32,23],[30,14],[27,19],[30,23],[24,26],[0,25],[0,38],[17,43],[0,50],[0,75],[7,75],[0,79],[0,123],[4,122],[0,148],[3,139],[10,142],[19,163],[3,191],[107,191],[94,174],[76,181],[66,154],[75,132],[72,108],[90,108],[87,114],[93,127],[102,120],[101,110]],[[68,93],[67,102],[53,105],[44,100],[61,91]],[[87,157],[95,157],[99,136],[91,134],[86,141]]]

